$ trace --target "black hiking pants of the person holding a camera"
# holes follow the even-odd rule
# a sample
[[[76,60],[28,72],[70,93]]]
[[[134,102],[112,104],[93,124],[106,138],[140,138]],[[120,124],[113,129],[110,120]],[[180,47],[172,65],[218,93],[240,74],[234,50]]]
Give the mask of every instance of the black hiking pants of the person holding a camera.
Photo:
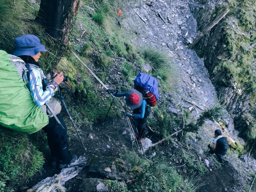
[[[57,117],[63,127],[58,124],[54,117],[51,117],[49,118],[49,124],[46,125],[43,130],[47,134],[48,145],[52,157],[56,157],[58,160],[61,160],[62,164],[68,164],[71,157],[67,146],[67,127],[61,114],[58,114]]]

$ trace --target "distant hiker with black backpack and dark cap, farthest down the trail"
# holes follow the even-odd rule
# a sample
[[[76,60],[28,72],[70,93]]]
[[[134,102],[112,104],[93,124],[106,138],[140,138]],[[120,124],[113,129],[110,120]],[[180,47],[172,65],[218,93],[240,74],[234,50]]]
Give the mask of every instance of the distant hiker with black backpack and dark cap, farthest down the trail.
[[[214,131],[215,139],[212,141],[212,146],[209,144],[208,148],[210,149],[210,154],[216,154],[219,162],[223,162],[222,158],[228,149],[227,137],[222,137],[221,130],[216,129]]]

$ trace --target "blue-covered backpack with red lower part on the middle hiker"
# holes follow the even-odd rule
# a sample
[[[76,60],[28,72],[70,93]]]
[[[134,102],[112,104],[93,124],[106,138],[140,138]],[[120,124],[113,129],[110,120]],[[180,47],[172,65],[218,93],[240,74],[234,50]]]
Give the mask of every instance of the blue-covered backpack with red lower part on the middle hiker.
[[[158,82],[157,80],[146,74],[139,73],[134,79],[135,89],[143,94],[144,99],[150,107],[154,107],[159,99]]]

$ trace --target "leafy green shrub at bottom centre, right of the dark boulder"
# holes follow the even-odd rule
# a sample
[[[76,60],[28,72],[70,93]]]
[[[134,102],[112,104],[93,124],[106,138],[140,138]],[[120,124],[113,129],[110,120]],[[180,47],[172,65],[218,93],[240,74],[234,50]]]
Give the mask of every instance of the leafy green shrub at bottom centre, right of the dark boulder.
[[[132,192],[169,192],[182,191],[185,188],[188,192],[194,191],[191,183],[182,183],[182,177],[163,158],[155,157],[149,162],[135,151],[122,154],[121,157],[135,166],[131,171],[136,175],[136,179],[128,185]]]

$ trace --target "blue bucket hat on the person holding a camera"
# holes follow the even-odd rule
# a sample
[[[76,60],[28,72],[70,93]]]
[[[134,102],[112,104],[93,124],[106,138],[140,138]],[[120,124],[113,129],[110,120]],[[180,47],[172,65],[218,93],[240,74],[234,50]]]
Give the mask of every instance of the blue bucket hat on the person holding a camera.
[[[40,39],[35,35],[22,35],[15,39],[16,50],[13,53],[15,56],[20,55],[36,55],[38,52],[47,52]]]

